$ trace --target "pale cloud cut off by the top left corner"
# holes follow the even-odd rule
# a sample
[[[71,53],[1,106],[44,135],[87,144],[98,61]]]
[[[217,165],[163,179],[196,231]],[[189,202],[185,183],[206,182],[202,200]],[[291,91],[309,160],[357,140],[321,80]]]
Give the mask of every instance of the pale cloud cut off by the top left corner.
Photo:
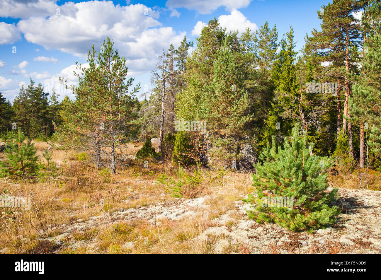
[[[51,16],[56,14],[57,0],[2,0],[0,17],[29,18],[32,16]]]

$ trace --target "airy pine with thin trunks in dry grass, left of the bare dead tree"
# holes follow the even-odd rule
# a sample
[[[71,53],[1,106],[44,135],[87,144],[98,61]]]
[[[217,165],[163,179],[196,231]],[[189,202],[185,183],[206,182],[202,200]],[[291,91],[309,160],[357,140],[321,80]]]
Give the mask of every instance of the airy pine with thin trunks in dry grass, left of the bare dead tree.
[[[134,78],[126,79],[126,59],[114,50],[110,38],[104,40],[98,56],[92,46],[88,62],[88,68],[76,63],[79,85],[72,88],[77,93],[75,102],[65,104],[67,130],[82,138],[83,148],[92,152],[97,165],[101,165],[104,155],[111,172],[115,173],[117,161],[123,157],[119,148],[134,131],[138,103],[135,93],[140,84],[128,91]],[[60,80],[67,82],[67,79]]]

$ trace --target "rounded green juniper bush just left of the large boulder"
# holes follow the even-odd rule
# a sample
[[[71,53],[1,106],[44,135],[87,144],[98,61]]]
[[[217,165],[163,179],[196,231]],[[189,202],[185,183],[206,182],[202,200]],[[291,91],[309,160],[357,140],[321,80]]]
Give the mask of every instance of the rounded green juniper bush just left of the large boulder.
[[[190,154],[194,149],[195,147],[192,144],[191,136],[184,131],[180,131],[176,133],[176,139],[174,141],[172,152],[172,160],[174,162],[182,163],[185,165],[195,164],[194,159],[190,157]]]

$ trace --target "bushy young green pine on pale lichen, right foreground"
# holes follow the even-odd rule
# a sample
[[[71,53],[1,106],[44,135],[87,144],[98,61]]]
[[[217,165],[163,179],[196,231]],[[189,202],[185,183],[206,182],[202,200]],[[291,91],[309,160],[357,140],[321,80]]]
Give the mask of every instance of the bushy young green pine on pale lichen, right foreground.
[[[298,125],[292,130],[290,142],[285,137],[284,147],[264,150],[263,165],[256,165],[253,186],[256,195],[249,195],[248,202],[255,205],[248,215],[257,222],[275,222],[293,230],[323,228],[333,224],[340,213],[338,206],[328,206],[335,199],[338,189],[327,191],[327,166],[320,166],[319,157],[310,156],[313,145],[307,142],[304,133],[299,138]],[[264,203],[270,197],[277,202],[287,198],[287,207]]]

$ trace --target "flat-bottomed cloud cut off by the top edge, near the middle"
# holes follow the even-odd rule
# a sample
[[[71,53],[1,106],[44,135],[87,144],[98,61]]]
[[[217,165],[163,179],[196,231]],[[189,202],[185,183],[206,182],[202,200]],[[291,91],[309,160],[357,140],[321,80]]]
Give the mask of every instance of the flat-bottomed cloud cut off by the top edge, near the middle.
[[[165,5],[168,8],[187,8],[196,10],[200,14],[209,14],[219,7],[225,7],[226,10],[239,9],[247,7],[252,0],[168,0]]]

